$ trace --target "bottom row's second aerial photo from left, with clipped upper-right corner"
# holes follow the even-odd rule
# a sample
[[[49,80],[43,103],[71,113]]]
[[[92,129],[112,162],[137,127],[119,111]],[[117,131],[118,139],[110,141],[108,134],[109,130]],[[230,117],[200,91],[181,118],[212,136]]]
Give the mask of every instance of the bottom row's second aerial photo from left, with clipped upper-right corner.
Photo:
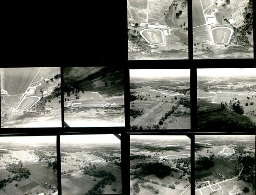
[[[122,194],[120,138],[60,136],[62,195]]]

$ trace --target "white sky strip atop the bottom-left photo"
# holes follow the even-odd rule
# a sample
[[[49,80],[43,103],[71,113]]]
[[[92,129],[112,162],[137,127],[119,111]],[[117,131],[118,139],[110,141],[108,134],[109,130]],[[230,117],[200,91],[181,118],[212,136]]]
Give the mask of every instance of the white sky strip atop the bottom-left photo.
[[[19,136],[19,137],[0,137],[0,142],[12,142],[12,143],[55,143],[56,136]]]

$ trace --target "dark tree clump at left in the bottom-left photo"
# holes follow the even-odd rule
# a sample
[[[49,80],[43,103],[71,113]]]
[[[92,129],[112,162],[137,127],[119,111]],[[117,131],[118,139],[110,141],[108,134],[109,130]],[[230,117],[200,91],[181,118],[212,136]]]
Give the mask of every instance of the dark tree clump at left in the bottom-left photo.
[[[0,189],[3,188],[7,182],[11,183],[13,180],[20,181],[22,178],[28,178],[30,176],[30,171],[27,168],[23,168],[22,163],[10,164],[6,170],[15,175],[8,177],[7,179],[0,180]]]

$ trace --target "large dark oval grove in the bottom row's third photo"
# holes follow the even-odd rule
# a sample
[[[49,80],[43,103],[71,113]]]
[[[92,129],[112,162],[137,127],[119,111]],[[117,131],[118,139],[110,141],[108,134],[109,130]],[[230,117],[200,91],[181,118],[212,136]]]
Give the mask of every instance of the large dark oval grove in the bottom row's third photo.
[[[135,169],[133,175],[135,178],[143,178],[144,176],[156,175],[158,178],[164,178],[171,174],[171,167],[160,163],[138,163],[132,166]]]

